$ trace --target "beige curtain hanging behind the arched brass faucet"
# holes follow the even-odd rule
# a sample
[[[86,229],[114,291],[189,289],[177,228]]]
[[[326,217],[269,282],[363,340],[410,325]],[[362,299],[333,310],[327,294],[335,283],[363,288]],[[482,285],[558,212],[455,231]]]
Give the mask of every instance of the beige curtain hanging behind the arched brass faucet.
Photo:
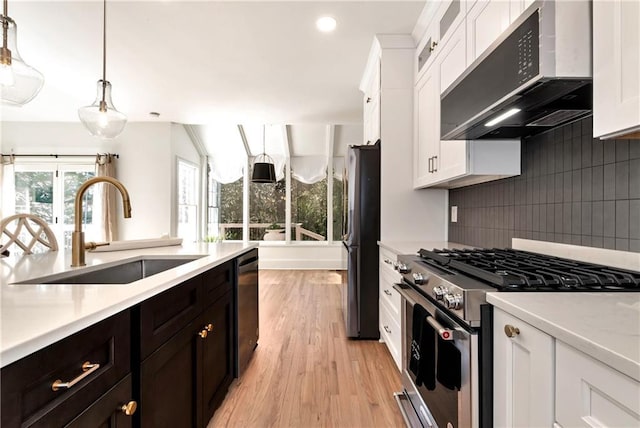
[[[103,154],[96,156],[96,176],[116,178],[116,156],[112,154]],[[100,221],[100,240],[111,242],[118,240],[118,223],[116,217],[116,192],[114,186],[107,183],[98,183],[96,185],[95,199],[101,204]],[[100,196],[98,196],[100,195]]]

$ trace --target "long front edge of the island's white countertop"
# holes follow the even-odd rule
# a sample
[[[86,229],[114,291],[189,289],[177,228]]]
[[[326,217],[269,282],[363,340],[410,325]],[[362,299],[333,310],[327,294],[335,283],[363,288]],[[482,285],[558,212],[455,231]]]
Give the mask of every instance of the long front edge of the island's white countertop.
[[[157,275],[154,275],[149,278],[145,278],[141,281],[158,281],[158,284],[152,286],[151,288],[136,294],[132,297],[123,299],[122,301],[116,302],[114,304],[105,305],[104,308],[92,312],[90,314],[86,314],[74,319],[71,322],[68,322],[64,325],[57,326],[50,331],[44,332],[43,334],[30,337],[25,339],[23,342],[12,344],[8,348],[0,349],[0,368],[10,365],[21,358],[24,358],[36,351],[39,351],[59,340],[62,340],[68,336],[71,336],[84,328],[87,328],[93,324],[96,324],[100,321],[103,321],[110,316],[113,316],[125,309],[129,309],[144,300],[152,298],[177,284],[181,284],[185,280],[189,278],[193,278],[196,275],[199,275],[211,268],[219,266],[229,260],[232,260],[248,251],[251,251],[254,248],[258,248],[257,244],[248,244],[244,248],[239,248],[237,250],[230,251],[223,257],[216,257],[213,260],[206,260],[207,258],[213,258],[212,255],[205,255],[199,261],[204,263],[196,264],[193,269],[188,272],[184,272],[177,277],[173,277],[169,280],[163,280],[163,274],[166,272],[161,272]],[[178,267],[180,268],[180,266]],[[177,268],[174,268],[177,269]]]

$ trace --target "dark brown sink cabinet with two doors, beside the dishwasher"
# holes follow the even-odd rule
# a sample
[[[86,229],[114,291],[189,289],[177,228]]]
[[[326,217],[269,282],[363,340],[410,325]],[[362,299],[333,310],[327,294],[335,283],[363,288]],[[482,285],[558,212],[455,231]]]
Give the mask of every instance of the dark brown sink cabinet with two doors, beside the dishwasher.
[[[141,427],[206,427],[224,400],[235,361],[232,266],[225,263],[140,305]],[[189,296],[203,296],[204,310],[195,313]],[[148,344],[168,328],[175,334],[144,358]]]

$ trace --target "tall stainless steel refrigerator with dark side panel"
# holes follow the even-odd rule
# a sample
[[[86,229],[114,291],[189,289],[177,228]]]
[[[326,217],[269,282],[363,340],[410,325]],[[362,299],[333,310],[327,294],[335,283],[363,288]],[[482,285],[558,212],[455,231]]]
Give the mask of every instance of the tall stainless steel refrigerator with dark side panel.
[[[347,277],[342,308],[347,337],[378,339],[378,240],[380,239],[380,140],[351,146],[347,167]]]

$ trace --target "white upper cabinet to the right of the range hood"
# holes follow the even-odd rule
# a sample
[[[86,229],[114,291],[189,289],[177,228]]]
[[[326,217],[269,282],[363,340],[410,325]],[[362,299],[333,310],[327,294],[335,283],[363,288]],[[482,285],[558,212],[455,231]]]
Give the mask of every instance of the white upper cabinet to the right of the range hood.
[[[593,136],[640,137],[640,1],[593,2]]]

